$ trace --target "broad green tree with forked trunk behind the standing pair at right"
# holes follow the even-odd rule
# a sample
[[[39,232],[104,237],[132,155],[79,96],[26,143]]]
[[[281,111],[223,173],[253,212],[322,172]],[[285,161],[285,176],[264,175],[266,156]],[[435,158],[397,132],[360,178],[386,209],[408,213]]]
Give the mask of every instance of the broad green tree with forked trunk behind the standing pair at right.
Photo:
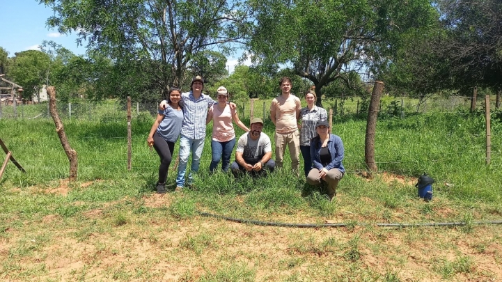
[[[274,70],[292,64],[315,85],[341,79],[355,88],[351,73],[386,65],[402,33],[430,24],[437,12],[428,0],[251,0],[257,10],[249,42],[253,62]],[[317,100],[318,104],[321,99]]]

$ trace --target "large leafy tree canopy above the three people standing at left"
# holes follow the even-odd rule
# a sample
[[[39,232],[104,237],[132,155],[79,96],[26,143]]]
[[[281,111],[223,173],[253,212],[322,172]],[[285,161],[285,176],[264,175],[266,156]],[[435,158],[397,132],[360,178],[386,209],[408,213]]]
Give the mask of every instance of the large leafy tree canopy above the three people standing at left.
[[[100,50],[119,65],[148,64],[157,88],[181,85],[200,52],[228,53],[249,30],[249,9],[225,0],[40,0],[54,10],[47,24],[77,32],[79,44]]]

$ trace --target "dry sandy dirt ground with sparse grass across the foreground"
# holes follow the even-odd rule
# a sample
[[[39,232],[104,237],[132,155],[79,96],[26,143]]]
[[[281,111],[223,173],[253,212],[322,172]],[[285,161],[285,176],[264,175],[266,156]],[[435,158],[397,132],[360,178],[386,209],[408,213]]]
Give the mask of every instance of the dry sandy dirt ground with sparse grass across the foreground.
[[[65,195],[68,186],[62,182],[47,193]],[[163,209],[173,197],[152,194],[142,200],[148,208]],[[94,209],[83,214],[81,225],[61,228],[65,219],[51,214],[4,230],[0,279],[502,281],[500,225],[286,228],[156,213],[109,226],[110,217]],[[335,214],[333,221],[340,217]]]

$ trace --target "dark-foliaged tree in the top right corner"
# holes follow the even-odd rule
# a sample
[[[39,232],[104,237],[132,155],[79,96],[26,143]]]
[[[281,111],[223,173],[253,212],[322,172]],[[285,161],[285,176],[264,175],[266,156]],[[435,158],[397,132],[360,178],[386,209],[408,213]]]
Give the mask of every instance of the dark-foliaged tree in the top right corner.
[[[453,87],[500,87],[502,81],[502,2],[441,0],[446,37],[438,38],[439,60],[447,60]]]

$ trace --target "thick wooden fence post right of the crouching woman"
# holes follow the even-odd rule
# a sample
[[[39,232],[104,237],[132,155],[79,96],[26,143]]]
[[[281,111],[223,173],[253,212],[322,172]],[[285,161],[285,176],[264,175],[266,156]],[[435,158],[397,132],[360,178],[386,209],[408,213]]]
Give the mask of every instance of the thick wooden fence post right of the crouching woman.
[[[370,172],[377,172],[375,164],[375,131],[377,129],[378,107],[380,96],[384,90],[383,81],[375,81],[373,92],[371,93],[370,107],[368,109],[368,122],[366,123],[366,141],[364,142],[364,162]]]

